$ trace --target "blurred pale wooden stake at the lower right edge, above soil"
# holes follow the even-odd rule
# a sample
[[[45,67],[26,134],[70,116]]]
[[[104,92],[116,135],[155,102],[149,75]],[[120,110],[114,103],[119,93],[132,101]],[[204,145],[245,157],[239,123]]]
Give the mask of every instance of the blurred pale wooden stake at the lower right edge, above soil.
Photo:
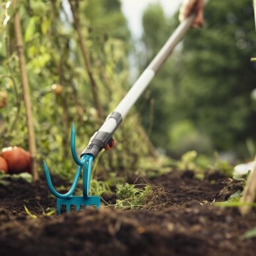
[[[251,170],[251,174],[247,178],[247,182],[245,188],[243,189],[243,195],[240,199],[240,203],[248,204],[239,207],[240,213],[244,216],[248,214],[251,210],[251,206],[249,204],[253,203],[256,195],[256,156],[253,163],[253,170]]]

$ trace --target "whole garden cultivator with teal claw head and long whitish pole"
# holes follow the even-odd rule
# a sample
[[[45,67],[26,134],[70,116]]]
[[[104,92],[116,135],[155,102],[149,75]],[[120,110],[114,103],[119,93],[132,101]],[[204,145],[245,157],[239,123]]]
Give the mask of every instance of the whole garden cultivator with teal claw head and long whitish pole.
[[[80,210],[81,205],[85,205],[86,207],[90,207],[91,205],[96,206],[96,208],[100,208],[100,197],[89,195],[90,191],[90,175],[92,170],[92,162],[96,158],[98,152],[102,150],[110,141],[112,141],[112,135],[120,125],[121,121],[127,112],[131,109],[131,107],[135,104],[139,96],[144,92],[149,82],[154,78],[154,75],[158,72],[164,61],[166,61],[167,57],[172,53],[172,50],[177,46],[180,40],[183,38],[189,27],[191,26],[195,15],[189,16],[186,20],[181,22],[179,26],[176,28],[174,34],[170,36],[166,44],[164,44],[163,48],[160,52],[154,57],[150,65],[144,70],[141,77],[135,82],[135,84],[131,87],[126,96],[121,100],[118,104],[117,108],[110,113],[107,117],[106,121],[100,127],[100,129],[94,133],[88,146],[86,146],[85,150],[80,155],[80,158],[77,156],[75,149],[75,128],[72,126],[71,129],[71,151],[73,155],[73,159],[78,165],[77,173],[75,174],[75,178],[73,181],[73,185],[69,192],[65,194],[58,193],[51,183],[51,177],[49,176],[48,166],[46,162],[44,162],[44,172],[46,175],[46,181],[48,183],[49,190],[55,197],[57,197],[57,213],[61,213],[61,205],[65,205],[67,212],[69,212],[71,205],[75,205],[77,210]],[[83,171],[83,196],[73,196],[73,193],[77,187],[77,183],[79,181],[80,173]]]

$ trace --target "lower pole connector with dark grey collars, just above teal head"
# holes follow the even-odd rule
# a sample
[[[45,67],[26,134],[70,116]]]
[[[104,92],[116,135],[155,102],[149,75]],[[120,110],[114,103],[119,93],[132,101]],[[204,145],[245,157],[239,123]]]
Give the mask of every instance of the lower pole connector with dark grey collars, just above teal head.
[[[112,138],[112,135],[122,121],[122,116],[118,112],[111,113],[105,123],[100,127],[99,131],[94,133],[88,146],[84,149],[81,156],[84,154],[90,154],[96,158],[98,152],[102,150],[108,144],[108,141]]]

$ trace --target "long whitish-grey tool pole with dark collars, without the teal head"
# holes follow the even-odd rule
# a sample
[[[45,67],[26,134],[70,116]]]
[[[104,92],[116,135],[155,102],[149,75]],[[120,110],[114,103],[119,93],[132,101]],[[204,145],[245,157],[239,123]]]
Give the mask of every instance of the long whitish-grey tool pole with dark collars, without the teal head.
[[[207,2],[208,0],[205,1],[205,4],[207,4]],[[187,19],[183,20],[181,24],[179,24],[166,44],[164,44],[156,57],[154,57],[148,67],[143,71],[139,79],[135,82],[135,84],[133,84],[129,92],[127,92],[123,100],[121,100],[115,110],[110,113],[102,127],[100,127],[99,131],[97,131],[90,139],[88,146],[81,155],[91,154],[95,158],[98,152],[104,148],[104,146],[111,139],[115,129],[117,129],[125,115],[127,115],[131,107],[135,104],[141,94],[143,94],[144,90],[154,78],[164,61],[166,61],[177,44],[179,44],[179,42],[183,39],[187,30],[189,30],[191,27],[194,19],[195,14],[192,14]]]

